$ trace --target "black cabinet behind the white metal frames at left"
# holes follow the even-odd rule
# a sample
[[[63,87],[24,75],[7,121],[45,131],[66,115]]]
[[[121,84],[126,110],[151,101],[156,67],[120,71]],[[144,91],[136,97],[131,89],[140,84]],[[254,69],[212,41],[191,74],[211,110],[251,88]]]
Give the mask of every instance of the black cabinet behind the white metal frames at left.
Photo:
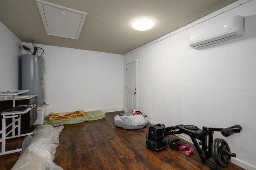
[[[17,97],[18,98],[18,97]],[[15,106],[19,105],[36,105],[36,95],[28,95],[27,98],[15,99]],[[0,113],[12,107],[12,100],[0,100]],[[21,116],[21,134],[31,132],[31,126],[36,120],[36,107],[31,109],[28,113]],[[6,125],[12,123],[11,119],[6,120]],[[2,116],[0,120],[0,130],[2,130]]]

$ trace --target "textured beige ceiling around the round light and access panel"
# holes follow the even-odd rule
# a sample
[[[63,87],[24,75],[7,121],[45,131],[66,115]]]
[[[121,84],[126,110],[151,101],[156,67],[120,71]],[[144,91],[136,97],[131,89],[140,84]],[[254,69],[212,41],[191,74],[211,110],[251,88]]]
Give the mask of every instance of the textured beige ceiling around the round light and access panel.
[[[43,0],[87,13],[78,40],[46,34],[36,0],[0,0],[0,21],[22,42],[124,54],[237,0]],[[151,30],[132,28],[137,18]]]

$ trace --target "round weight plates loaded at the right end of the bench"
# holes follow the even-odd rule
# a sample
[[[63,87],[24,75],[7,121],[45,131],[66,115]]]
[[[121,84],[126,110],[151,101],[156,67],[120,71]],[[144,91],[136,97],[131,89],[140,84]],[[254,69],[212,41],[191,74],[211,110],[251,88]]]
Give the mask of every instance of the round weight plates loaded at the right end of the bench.
[[[218,166],[227,168],[230,166],[231,157],[225,155],[225,152],[230,152],[230,148],[226,140],[216,138],[212,142],[212,157]]]

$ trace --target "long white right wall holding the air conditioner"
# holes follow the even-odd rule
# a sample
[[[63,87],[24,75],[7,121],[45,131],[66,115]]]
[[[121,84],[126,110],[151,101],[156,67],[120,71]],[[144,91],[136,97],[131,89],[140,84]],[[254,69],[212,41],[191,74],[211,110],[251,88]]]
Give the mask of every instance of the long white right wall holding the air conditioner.
[[[239,124],[241,133],[224,137],[215,132],[214,138],[228,142],[237,155],[232,162],[255,169],[256,0],[242,2],[127,53],[124,68],[138,59],[138,110],[149,121],[166,127]],[[190,32],[235,15],[245,16],[245,36],[201,49],[188,45]]]

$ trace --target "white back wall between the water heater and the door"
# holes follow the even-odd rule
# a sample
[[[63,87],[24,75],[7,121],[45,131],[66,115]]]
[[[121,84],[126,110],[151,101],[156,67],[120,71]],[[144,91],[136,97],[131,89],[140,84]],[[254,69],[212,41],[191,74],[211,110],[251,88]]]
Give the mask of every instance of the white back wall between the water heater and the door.
[[[31,43],[24,45],[34,49]],[[122,55],[35,45],[44,49],[45,102],[50,103],[47,114],[78,109],[123,110]],[[37,55],[41,52],[39,49]]]

